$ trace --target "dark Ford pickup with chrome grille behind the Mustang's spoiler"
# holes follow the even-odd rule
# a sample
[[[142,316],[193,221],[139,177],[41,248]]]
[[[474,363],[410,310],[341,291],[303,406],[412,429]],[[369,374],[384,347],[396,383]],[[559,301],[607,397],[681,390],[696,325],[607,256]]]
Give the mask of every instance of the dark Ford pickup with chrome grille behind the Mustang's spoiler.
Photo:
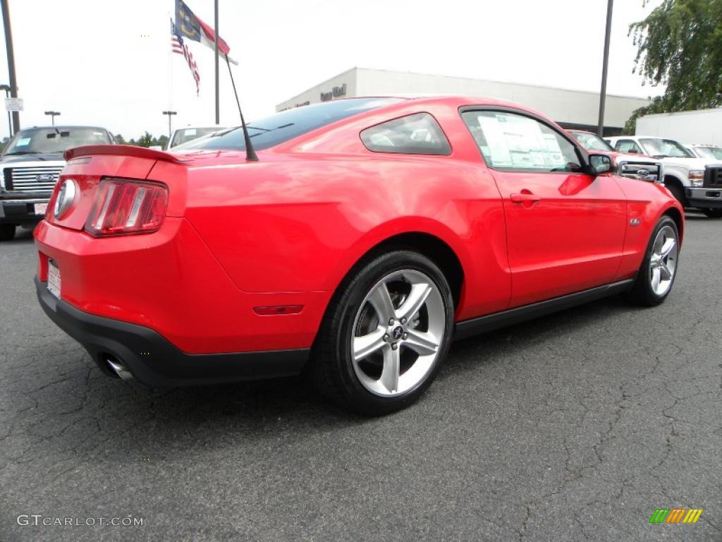
[[[96,126],[35,126],[17,132],[0,155],[0,241],[17,226],[43,220],[65,167],[63,152],[82,145],[109,145],[113,136]]]

